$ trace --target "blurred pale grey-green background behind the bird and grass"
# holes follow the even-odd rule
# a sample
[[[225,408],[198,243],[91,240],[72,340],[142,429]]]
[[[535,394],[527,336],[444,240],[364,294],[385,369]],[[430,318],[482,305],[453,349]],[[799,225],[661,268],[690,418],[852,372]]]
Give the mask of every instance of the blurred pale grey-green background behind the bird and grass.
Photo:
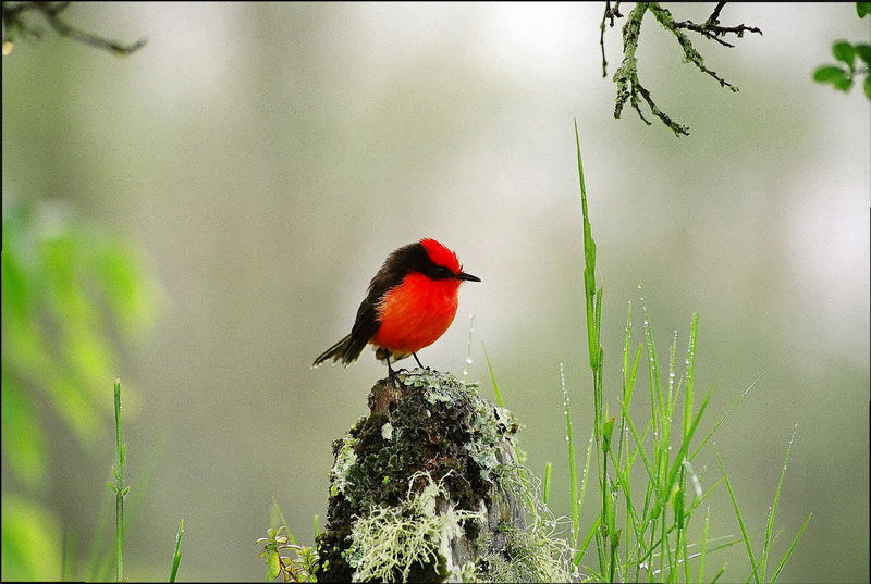
[[[713,3],[670,8],[702,22]],[[833,41],[868,42],[870,20],[852,3],[727,4],[724,24],[764,36],[696,46],[737,94],[683,63],[646,20],[641,80],[690,126],[678,139],[628,107],[613,119],[621,39],[618,28],[605,35],[603,79],[602,10],[74,3],[69,22],[148,44],[119,58],[45,25],[40,40],[19,42],[2,69],[4,261],[25,247],[19,233],[30,244],[75,234],[52,261],[75,272],[93,244],[114,268],[66,298],[68,310],[96,311],[77,340],[38,310],[16,336],[4,309],[3,360],[20,369],[4,373],[3,409],[21,417],[3,421],[27,424],[3,433],[3,577],[59,577],[62,564],[100,573],[115,376],[130,579],[167,577],[184,519],[180,580],[262,580],[255,540],[273,498],[310,543],[331,442],[366,413],[384,371],[368,351],[347,369],[309,365],[348,332],[384,257],[425,236],[482,283],[463,286],[453,327],[421,360],[463,374],[470,348],[466,378],[492,397],[486,345],[526,424],[527,463],[541,472],[553,461],[553,508],[566,513],[560,363],[581,444],[592,417],[577,119],[611,410],[627,303],[640,323],[643,297],[661,355],[674,331],[686,349],[698,311],[697,388],[712,389],[704,430],[761,375],[715,439],[748,530],[759,542],[798,424],[776,559],[813,519],[781,581],[867,581],[870,110],[860,87],[834,91],[811,74],[833,61]],[[27,253],[22,262],[38,260]],[[46,265],[49,279],[62,271]],[[113,291],[112,274],[126,287]],[[8,293],[5,263],[3,278]],[[33,301],[70,278],[30,288]],[[26,360],[27,326],[48,339],[38,366]],[[53,375],[69,368],[86,381],[65,402]],[[646,374],[639,384],[643,395]],[[710,485],[713,451],[702,458]],[[711,534],[739,536],[725,489],[711,506]],[[13,549],[15,530],[30,539]],[[709,576],[723,563],[724,581],[749,573],[740,545],[709,558]]]

